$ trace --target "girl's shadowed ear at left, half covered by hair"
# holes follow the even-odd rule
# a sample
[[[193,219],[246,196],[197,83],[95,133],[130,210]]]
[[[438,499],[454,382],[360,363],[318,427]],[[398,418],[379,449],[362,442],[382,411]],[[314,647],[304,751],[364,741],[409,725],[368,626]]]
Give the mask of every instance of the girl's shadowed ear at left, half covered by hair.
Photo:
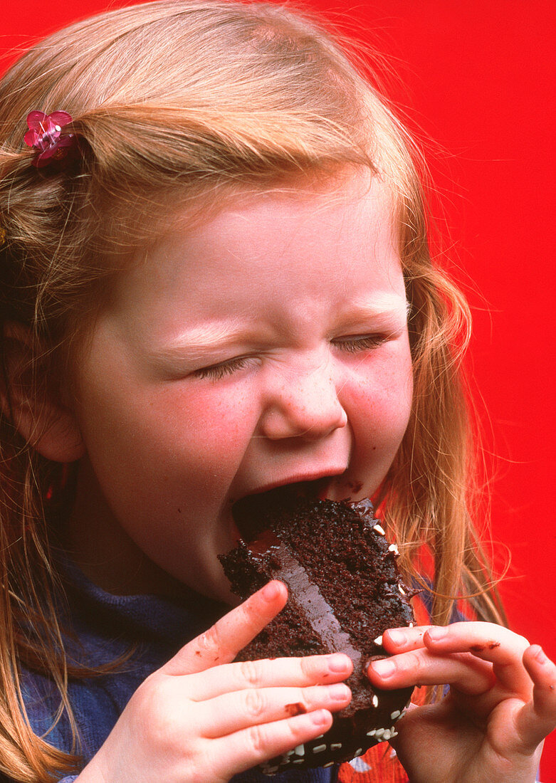
[[[53,382],[48,350],[34,343],[27,327],[5,324],[0,406],[38,453],[55,462],[74,462],[85,453],[78,421],[63,404],[59,382]]]

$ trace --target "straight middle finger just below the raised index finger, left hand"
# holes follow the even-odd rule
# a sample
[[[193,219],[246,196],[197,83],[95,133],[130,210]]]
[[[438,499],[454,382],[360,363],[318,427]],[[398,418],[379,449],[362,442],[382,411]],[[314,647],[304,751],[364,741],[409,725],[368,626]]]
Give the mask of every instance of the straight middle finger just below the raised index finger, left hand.
[[[305,687],[340,682],[352,673],[348,655],[311,655],[307,658],[276,658],[262,661],[238,661],[192,675],[188,681],[189,698],[195,702],[231,691],[260,687]]]

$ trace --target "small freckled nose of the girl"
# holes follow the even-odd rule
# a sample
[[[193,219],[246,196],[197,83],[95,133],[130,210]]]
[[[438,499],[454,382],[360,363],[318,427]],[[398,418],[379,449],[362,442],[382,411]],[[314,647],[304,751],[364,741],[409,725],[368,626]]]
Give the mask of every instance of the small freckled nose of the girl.
[[[304,438],[319,440],[348,423],[338,398],[338,379],[328,363],[297,367],[278,375],[267,390],[260,425],[270,440]]]

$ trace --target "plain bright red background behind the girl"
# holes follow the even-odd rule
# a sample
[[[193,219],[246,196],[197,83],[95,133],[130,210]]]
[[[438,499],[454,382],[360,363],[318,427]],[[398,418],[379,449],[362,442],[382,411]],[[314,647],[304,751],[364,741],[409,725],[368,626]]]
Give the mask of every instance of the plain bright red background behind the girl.
[[[427,143],[443,200],[435,211],[473,308],[470,363],[496,454],[493,539],[512,554],[502,591],[514,630],[554,658],[554,0],[307,5],[392,58],[390,95],[410,128],[438,143]],[[2,49],[107,2],[17,6]],[[554,734],[541,771],[556,781]]]

